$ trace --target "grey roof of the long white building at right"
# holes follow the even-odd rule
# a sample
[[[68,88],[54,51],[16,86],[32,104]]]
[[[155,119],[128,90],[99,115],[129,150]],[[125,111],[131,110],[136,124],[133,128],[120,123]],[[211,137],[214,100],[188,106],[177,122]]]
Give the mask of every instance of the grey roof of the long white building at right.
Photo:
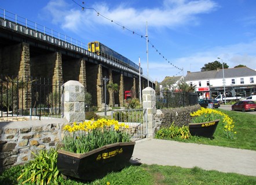
[[[236,67],[224,69],[225,78],[235,78],[235,77],[251,77],[256,76],[256,71],[248,67]],[[190,80],[204,80],[204,79],[214,79],[223,78],[222,69],[211,70],[211,71],[199,71],[199,72],[188,72],[185,76],[185,81]]]

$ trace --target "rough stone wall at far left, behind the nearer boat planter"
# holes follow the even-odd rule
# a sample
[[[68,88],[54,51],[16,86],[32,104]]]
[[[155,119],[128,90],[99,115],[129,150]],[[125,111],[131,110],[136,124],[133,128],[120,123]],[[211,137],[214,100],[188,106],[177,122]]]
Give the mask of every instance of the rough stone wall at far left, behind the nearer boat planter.
[[[66,119],[0,123],[0,172],[31,160],[41,149],[55,148],[61,141]]]

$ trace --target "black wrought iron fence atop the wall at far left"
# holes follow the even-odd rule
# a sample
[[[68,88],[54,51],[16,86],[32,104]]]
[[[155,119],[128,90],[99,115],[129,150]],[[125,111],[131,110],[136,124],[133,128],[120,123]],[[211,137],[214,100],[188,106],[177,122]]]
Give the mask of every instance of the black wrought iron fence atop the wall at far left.
[[[0,117],[34,116],[38,119],[63,117],[63,90],[61,82],[45,78],[0,78]]]

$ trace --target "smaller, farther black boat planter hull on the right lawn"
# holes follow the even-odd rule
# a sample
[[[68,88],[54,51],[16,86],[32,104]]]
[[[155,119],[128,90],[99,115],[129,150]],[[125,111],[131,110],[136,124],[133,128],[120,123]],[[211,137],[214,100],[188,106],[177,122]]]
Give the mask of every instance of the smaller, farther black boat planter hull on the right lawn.
[[[189,133],[191,133],[191,135],[213,138],[218,122],[220,122],[220,119],[204,123],[189,123]]]

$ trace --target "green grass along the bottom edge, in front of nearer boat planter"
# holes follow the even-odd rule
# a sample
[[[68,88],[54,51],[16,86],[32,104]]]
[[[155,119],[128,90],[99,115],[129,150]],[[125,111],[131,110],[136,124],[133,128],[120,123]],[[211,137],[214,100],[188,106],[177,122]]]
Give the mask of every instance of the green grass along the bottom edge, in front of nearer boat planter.
[[[14,167],[5,171],[0,176],[1,185],[21,184],[16,179],[21,167]],[[31,184],[31,183],[25,183]],[[82,182],[75,179],[64,180],[58,177],[58,184],[62,185],[169,185],[169,184],[256,184],[256,177],[239,175],[236,173],[223,173],[206,171],[198,167],[181,168],[161,165],[131,165],[120,172],[109,173],[102,179],[93,182]],[[50,184],[52,185],[52,184]]]

